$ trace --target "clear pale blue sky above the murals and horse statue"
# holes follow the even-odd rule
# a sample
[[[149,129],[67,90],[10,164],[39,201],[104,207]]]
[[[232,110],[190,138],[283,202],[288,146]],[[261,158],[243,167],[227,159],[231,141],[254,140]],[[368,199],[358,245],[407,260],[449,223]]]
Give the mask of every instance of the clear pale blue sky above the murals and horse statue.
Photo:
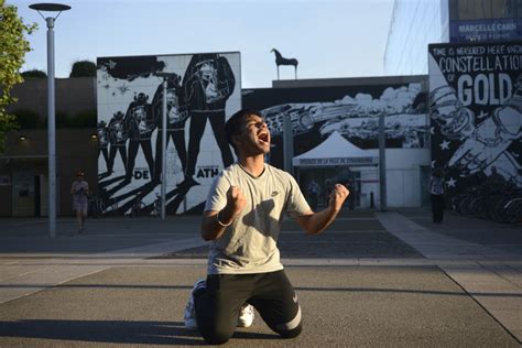
[[[18,7],[32,52],[23,70],[47,69],[46,24]],[[42,1],[44,2],[44,1]],[[55,22],[55,76],[97,57],[240,52],[242,88],[271,87],[275,56],[297,58],[297,78],[382,76],[393,0],[59,0],[72,7]],[[45,17],[56,15],[42,12]],[[293,79],[292,66],[280,67]]]

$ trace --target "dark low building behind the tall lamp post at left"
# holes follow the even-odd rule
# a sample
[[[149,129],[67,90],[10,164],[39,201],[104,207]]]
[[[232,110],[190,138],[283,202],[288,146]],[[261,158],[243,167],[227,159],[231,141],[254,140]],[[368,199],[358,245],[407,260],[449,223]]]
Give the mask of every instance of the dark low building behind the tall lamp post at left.
[[[94,77],[57,78],[56,116],[74,117],[96,112]],[[40,217],[47,215],[47,79],[29,78],[15,85],[18,99],[8,112],[31,113],[28,128],[8,133],[6,152],[0,155],[0,217]],[[28,122],[25,122],[28,123]],[[70,185],[77,171],[85,173],[90,189],[97,191],[98,141],[95,127],[56,130],[56,213],[72,216]]]

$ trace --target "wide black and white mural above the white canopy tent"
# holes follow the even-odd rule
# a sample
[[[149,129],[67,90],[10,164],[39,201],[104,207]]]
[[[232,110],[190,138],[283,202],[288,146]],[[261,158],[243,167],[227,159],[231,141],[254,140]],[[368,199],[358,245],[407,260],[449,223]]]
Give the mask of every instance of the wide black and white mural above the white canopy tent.
[[[294,155],[339,132],[361,149],[379,148],[384,113],[387,148],[429,148],[427,96],[421,81],[409,85],[271,88],[243,90],[243,106],[260,110],[270,128],[271,163],[283,167],[283,126],[290,118]]]

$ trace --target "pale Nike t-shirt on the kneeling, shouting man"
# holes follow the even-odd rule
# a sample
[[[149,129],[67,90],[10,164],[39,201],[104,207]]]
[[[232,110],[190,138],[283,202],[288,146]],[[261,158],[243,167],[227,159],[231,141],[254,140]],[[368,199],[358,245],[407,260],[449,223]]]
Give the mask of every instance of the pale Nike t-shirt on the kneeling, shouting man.
[[[232,225],[211,242],[208,274],[282,270],[276,241],[284,214],[300,216],[309,210],[297,183],[289,173],[269,164],[259,177],[254,177],[236,163],[214,181],[205,211],[225,208],[231,185],[241,189],[247,205]]]

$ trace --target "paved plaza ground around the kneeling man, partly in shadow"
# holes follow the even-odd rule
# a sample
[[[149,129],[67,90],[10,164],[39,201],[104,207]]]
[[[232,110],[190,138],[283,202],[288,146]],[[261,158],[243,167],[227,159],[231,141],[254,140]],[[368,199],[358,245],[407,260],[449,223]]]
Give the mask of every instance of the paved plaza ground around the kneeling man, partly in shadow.
[[[205,345],[183,326],[208,246],[199,217],[0,219],[0,347]],[[520,347],[522,228],[424,209],[342,211],[280,248],[304,329],[258,316],[230,347]]]

